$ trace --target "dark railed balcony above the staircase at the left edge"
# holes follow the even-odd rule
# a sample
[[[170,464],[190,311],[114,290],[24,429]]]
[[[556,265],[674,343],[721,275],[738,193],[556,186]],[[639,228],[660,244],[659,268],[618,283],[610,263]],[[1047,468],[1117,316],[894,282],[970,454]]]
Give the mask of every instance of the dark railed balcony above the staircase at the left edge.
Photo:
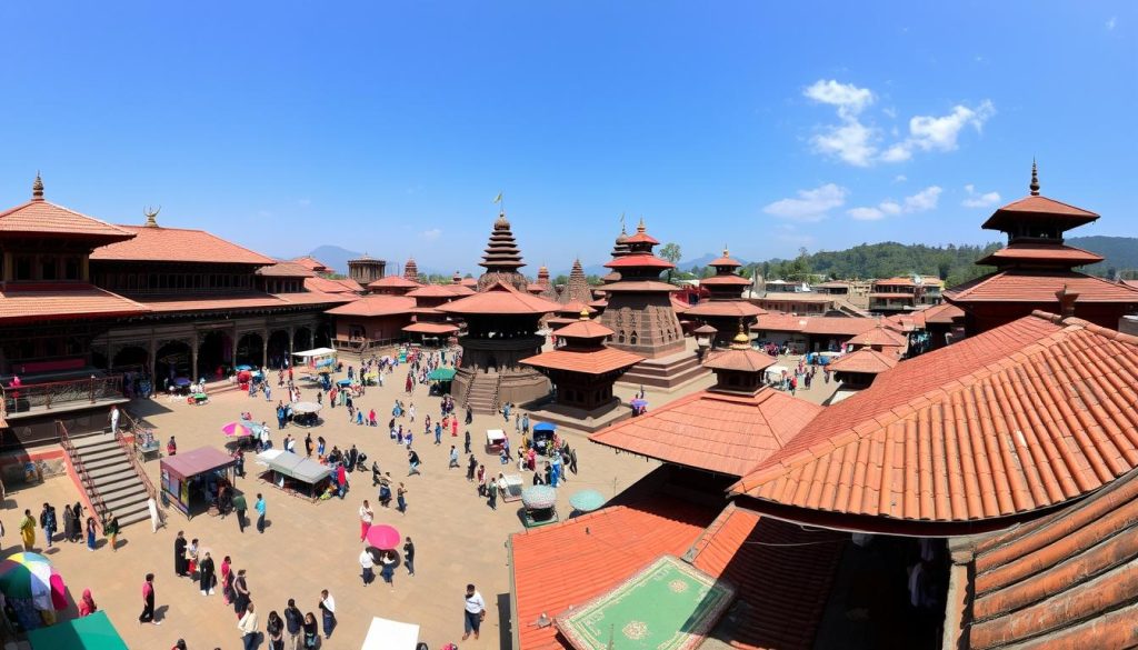
[[[9,426],[20,418],[126,402],[122,375],[0,386],[0,395],[3,396],[3,419]]]

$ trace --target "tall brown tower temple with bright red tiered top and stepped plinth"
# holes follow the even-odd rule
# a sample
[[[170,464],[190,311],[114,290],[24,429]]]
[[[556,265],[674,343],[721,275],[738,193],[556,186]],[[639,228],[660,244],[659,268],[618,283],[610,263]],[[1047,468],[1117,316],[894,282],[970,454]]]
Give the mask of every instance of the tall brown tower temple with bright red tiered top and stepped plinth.
[[[687,352],[679,319],[673,308],[671,285],[660,281],[660,272],[674,268],[657,257],[659,244],[641,220],[636,233],[618,239],[613,260],[605,264],[619,279],[604,285],[608,301],[601,322],[616,332],[609,345],[645,359],[622,378],[632,384],[671,388],[706,371],[694,353]]]

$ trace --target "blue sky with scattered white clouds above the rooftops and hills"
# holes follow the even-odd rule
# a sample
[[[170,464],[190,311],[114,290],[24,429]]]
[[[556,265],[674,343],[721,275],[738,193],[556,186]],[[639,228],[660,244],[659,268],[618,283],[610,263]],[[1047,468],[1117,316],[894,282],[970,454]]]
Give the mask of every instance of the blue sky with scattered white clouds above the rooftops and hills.
[[[1138,5],[925,5],[6,2],[0,203],[476,271],[501,190],[533,273],[993,240],[1036,156],[1138,233]]]

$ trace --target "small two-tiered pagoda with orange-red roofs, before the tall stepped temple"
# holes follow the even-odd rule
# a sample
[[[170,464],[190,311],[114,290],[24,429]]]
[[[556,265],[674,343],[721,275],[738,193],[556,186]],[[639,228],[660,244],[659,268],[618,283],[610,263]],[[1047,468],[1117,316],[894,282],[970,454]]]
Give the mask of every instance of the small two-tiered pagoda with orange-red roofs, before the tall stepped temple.
[[[585,431],[612,421],[609,419],[595,427],[583,422],[597,420],[620,404],[612,395],[613,382],[625,370],[644,360],[622,349],[605,347],[604,339],[612,336],[612,330],[589,320],[588,313],[588,307],[583,305],[579,320],[558,330],[556,348],[521,360],[549,376],[556,388],[554,405],[534,415]],[[569,418],[561,420],[558,415]]]

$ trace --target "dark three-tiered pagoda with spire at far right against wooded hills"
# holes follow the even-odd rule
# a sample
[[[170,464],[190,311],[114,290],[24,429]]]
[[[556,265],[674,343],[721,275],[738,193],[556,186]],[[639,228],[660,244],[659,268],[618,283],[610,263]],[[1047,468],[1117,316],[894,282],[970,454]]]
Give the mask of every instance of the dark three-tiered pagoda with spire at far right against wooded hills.
[[[1036,310],[1119,329],[1122,316],[1138,312],[1138,289],[1075,271],[1103,257],[1063,242],[1067,230],[1098,215],[1041,196],[1034,163],[1030,189],[1029,196],[998,208],[982,227],[1007,235],[1007,246],[976,262],[996,271],[945,291],[946,301],[964,310],[966,335]]]

